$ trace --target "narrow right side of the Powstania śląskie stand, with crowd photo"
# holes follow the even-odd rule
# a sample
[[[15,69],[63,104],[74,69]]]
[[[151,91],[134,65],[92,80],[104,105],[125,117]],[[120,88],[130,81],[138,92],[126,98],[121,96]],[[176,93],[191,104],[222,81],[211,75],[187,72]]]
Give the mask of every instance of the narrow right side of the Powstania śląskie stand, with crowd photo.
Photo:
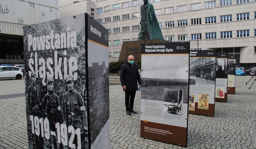
[[[110,149],[108,33],[87,14],[88,93],[91,149]]]

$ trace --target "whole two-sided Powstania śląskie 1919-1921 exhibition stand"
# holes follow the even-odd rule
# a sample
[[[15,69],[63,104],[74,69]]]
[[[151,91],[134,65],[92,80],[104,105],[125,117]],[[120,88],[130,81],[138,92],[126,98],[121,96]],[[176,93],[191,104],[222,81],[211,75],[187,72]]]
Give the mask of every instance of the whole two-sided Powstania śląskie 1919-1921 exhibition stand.
[[[23,29],[29,149],[109,149],[106,29],[86,13]]]

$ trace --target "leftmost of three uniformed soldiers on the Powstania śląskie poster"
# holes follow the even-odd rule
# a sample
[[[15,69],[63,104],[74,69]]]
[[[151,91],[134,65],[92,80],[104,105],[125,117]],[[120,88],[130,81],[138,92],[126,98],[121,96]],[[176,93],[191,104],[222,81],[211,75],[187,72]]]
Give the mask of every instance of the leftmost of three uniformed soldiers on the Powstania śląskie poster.
[[[34,117],[38,117],[38,119],[43,117],[43,108],[42,108],[42,97],[40,93],[40,88],[36,85],[36,73],[34,71],[31,72],[31,84],[28,87],[28,92],[26,95],[26,106],[28,111],[28,117],[31,115]],[[40,127],[41,129],[41,127]],[[41,130],[39,132],[42,132]],[[41,134],[33,134],[34,138],[34,148],[43,149],[44,148],[44,138]]]

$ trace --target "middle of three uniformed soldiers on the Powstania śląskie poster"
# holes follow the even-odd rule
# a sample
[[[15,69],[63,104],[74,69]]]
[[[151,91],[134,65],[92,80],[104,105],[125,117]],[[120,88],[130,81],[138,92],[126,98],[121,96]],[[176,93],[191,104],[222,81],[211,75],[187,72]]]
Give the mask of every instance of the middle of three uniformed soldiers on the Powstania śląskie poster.
[[[55,124],[57,122],[62,122],[62,113],[60,109],[60,101],[58,99],[58,96],[53,92],[54,87],[54,81],[52,78],[47,79],[47,94],[45,94],[42,105],[44,107],[45,111],[45,117],[49,119],[50,122],[50,130],[52,132],[55,132],[56,134],[56,128]],[[53,144],[53,146],[52,146]],[[57,149],[57,141],[56,137],[51,135],[50,138],[50,148],[51,149]],[[59,149],[62,149],[63,146],[60,144]]]

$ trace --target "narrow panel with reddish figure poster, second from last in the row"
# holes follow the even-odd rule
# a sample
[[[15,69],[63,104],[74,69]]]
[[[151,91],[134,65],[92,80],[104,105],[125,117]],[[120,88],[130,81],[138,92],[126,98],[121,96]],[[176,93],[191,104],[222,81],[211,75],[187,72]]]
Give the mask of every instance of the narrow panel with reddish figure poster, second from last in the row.
[[[217,53],[215,101],[227,102],[228,54]]]

